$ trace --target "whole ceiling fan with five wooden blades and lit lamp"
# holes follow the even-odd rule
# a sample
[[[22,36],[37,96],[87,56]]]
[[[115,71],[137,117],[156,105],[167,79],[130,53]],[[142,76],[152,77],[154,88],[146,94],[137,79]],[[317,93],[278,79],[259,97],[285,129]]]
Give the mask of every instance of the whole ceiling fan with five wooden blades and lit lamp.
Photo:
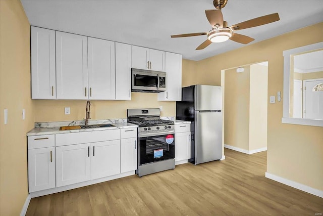
[[[212,26],[212,30],[210,30],[209,32],[176,34],[171,35],[171,37],[174,38],[206,35],[207,40],[202,42],[202,44],[198,46],[196,50],[202,50],[208,45],[210,45],[212,42],[224,42],[228,39],[239,42],[241,44],[248,44],[249,42],[253,41],[254,38],[242,34],[237,34],[235,33],[235,31],[265,25],[279,20],[278,13],[274,13],[247,20],[228,27],[227,21],[223,20],[223,15],[221,11],[221,9],[227,5],[227,2],[228,0],[213,0],[213,5],[216,9],[205,10],[206,18]]]

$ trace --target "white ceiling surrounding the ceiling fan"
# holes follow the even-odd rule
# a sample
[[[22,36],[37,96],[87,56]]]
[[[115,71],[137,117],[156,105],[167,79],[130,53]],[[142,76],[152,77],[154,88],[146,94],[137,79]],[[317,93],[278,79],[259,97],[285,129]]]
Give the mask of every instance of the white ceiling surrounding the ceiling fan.
[[[206,35],[171,38],[171,34],[211,30],[205,10],[212,0],[202,1],[98,1],[21,0],[29,22],[70,33],[108,39],[201,60],[243,46],[237,42],[211,44],[196,51]],[[222,9],[228,25],[279,13],[280,21],[237,31],[255,38],[250,44],[323,21],[323,1],[229,0]]]

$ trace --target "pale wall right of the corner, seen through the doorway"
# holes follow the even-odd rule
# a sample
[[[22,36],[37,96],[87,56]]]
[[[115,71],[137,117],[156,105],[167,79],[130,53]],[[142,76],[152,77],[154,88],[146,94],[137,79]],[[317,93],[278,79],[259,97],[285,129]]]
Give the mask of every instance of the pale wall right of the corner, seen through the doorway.
[[[250,65],[249,151],[267,147],[268,67]]]

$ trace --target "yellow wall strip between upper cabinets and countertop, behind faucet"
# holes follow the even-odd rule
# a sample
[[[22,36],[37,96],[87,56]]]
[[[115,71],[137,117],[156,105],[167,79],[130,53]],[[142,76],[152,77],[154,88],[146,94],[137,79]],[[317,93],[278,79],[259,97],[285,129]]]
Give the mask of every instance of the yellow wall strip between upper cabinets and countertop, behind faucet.
[[[85,118],[85,100],[34,100],[36,122],[82,120]],[[127,118],[127,109],[159,108],[163,106],[161,116],[175,116],[176,103],[157,101],[155,93],[132,93],[131,101],[95,101],[91,100],[91,119]],[[64,107],[71,108],[71,114],[64,114]]]

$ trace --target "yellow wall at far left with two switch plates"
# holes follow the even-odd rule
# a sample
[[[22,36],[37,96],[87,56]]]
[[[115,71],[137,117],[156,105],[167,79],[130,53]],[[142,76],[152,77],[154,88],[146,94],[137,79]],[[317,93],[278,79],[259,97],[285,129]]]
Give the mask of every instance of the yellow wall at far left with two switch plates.
[[[26,133],[34,125],[30,25],[20,1],[0,1],[0,46],[0,215],[19,215],[28,195]]]

